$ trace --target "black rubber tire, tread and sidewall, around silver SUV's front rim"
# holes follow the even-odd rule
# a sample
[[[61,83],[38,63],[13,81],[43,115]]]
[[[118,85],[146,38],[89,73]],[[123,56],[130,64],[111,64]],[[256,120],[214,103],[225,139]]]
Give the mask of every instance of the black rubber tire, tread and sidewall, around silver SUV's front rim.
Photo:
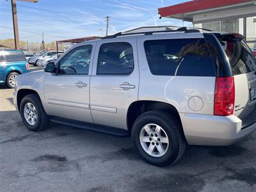
[[[35,106],[37,112],[37,119],[35,125],[28,124],[25,116],[24,116],[24,106],[26,103],[30,102]],[[44,111],[44,107],[42,106],[41,100],[36,94],[26,95],[20,102],[20,116],[23,124],[30,131],[43,131],[47,127],[49,127],[50,120],[47,114]]]

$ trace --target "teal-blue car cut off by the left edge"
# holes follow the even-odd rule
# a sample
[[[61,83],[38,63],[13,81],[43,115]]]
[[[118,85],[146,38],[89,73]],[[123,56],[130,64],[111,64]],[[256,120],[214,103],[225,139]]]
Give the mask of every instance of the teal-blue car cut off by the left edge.
[[[0,50],[0,83],[5,83],[9,88],[14,88],[15,77],[27,72],[30,72],[29,64],[22,51]]]

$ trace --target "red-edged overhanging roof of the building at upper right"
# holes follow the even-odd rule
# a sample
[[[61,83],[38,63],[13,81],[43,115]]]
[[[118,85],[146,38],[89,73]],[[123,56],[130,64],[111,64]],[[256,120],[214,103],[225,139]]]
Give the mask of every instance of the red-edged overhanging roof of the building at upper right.
[[[161,17],[172,17],[175,19],[182,19],[186,21],[194,22],[196,14],[202,13],[210,13],[210,12],[218,12],[218,10],[230,10],[236,8],[236,14],[241,14],[243,12],[239,12],[237,8],[246,8],[248,9],[250,6],[255,6],[255,1],[252,0],[194,0],[188,1],[185,3],[175,4],[172,6],[166,6],[163,8],[159,8],[159,14]],[[234,12],[234,10],[233,10]],[[253,11],[255,14],[255,9]],[[228,17],[229,13],[226,13],[226,17]],[[232,14],[230,14],[232,15]],[[224,16],[223,16],[224,17]]]

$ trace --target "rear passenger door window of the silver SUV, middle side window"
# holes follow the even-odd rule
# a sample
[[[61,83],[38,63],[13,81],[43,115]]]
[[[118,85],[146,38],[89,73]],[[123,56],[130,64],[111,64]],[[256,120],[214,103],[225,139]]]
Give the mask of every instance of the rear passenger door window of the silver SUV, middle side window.
[[[100,46],[97,74],[129,75],[134,68],[132,45],[114,42]]]

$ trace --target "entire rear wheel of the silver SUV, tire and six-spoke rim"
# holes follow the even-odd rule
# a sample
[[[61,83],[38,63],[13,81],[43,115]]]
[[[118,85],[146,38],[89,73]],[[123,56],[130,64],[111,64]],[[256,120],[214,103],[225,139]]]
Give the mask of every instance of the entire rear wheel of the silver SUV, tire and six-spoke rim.
[[[164,111],[140,115],[132,127],[132,141],[141,158],[156,166],[173,164],[186,148],[182,127]]]

